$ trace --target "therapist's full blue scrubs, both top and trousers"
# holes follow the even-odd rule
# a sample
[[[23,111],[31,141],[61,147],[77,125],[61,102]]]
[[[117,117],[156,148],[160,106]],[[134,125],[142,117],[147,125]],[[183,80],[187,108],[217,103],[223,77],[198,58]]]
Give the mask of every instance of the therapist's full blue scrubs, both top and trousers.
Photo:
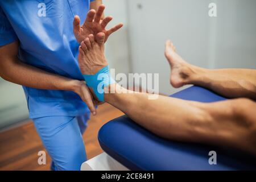
[[[0,46],[19,40],[26,64],[84,80],[77,62],[73,18],[84,22],[93,0],[0,1]],[[30,118],[54,162],[54,169],[80,169],[86,160],[81,131],[89,109],[74,92],[23,86]],[[82,129],[80,129],[80,126]]]

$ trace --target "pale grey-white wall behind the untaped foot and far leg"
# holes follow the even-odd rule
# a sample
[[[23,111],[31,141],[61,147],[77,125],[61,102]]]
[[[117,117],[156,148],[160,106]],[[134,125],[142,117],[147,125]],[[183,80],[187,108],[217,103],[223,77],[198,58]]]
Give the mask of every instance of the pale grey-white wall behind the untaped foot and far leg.
[[[128,2],[131,71],[159,73],[160,92],[169,85],[164,42],[171,39],[189,63],[205,68],[256,68],[256,1],[132,0]],[[217,3],[217,18],[208,5]]]

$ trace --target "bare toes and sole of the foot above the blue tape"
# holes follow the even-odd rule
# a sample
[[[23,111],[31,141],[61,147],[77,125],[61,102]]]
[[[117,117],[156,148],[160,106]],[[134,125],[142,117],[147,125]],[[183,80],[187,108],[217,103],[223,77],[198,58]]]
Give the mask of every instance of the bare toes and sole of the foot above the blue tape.
[[[79,67],[82,75],[94,75],[108,65],[104,55],[105,34],[100,32],[94,40],[89,35],[79,47]]]

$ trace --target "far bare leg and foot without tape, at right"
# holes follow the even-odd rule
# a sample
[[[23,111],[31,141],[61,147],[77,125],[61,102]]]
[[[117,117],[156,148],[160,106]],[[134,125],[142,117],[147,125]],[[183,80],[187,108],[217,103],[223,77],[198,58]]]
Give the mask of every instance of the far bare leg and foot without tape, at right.
[[[175,88],[195,84],[214,90],[225,97],[256,99],[255,69],[204,69],[188,64],[175,52],[170,41],[165,55],[171,66],[171,84]]]

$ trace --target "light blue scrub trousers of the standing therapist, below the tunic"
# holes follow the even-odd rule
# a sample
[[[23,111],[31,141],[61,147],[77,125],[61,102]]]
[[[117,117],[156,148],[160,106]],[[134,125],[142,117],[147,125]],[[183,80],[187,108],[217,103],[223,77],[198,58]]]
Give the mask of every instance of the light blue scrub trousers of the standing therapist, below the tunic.
[[[80,170],[86,161],[82,133],[90,113],[79,117],[51,116],[33,119],[36,131],[52,158],[52,170]]]

